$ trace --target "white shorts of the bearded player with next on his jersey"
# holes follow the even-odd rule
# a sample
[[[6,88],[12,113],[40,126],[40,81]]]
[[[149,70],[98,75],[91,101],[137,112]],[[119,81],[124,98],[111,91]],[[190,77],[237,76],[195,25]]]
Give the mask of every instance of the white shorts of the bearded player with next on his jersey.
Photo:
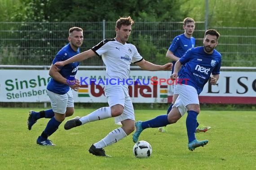
[[[191,85],[176,85],[177,93],[179,94],[176,102],[172,107],[177,107],[183,116],[188,109],[189,104],[199,104],[199,98],[196,89]]]

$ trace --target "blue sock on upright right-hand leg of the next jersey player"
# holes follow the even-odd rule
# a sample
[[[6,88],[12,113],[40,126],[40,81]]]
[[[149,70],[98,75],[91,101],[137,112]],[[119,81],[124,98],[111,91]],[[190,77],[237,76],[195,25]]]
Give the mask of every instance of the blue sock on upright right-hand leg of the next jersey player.
[[[187,133],[188,133],[188,138],[189,138],[189,143],[195,140],[195,130],[196,130],[196,125],[197,125],[197,115],[198,113],[190,110],[188,112],[188,116],[186,119],[186,127],[187,127]]]

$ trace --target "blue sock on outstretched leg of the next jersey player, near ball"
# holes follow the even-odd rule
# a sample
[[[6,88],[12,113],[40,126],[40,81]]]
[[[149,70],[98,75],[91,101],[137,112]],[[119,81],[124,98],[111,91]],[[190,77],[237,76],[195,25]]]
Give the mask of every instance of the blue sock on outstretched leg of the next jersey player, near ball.
[[[142,129],[146,129],[146,128],[154,128],[154,127],[163,127],[170,124],[168,122],[168,115],[159,115],[154,119],[145,121],[141,123],[141,127]]]

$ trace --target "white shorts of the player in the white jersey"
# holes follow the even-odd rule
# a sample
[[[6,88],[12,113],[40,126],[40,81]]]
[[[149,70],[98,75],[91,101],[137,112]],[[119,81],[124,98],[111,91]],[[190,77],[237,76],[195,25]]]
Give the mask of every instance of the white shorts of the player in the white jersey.
[[[121,115],[115,117],[115,123],[126,119],[135,121],[132,99],[129,96],[128,87],[123,85],[106,85],[104,88],[106,98],[108,98],[109,106],[122,105],[124,111]]]

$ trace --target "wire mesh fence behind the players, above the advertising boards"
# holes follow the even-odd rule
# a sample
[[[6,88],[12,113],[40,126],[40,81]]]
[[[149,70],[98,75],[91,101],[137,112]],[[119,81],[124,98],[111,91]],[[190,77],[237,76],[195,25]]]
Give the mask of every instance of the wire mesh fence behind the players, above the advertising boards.
[[[141,55],[154,63],[164,64],[172,39],[184,33],[182,22],[136,22],[129,42]],[[50,65],[57,51],[68,43],[68,30],[84,29],[85,51],[105,38],[115,37],[115,22],[0,22],[0,64]],[[222,66],[255,66],[256,28],[214,27],[221,33],[216,47],[222,54]],[[196,22],[193,36],[202,45],[204,22]],[[81,65],[103,65],[97,57]]]

